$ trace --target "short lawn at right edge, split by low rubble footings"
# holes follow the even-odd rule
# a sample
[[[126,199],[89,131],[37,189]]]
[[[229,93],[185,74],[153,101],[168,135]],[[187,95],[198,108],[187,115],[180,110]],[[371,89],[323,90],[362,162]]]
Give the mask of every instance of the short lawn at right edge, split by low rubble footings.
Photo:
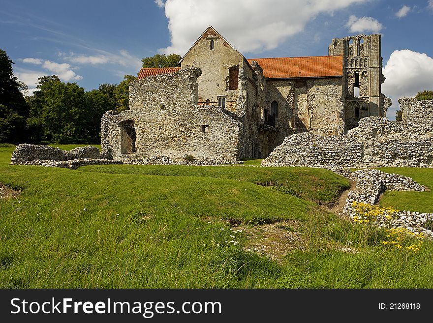
[[[430,189],[427,192],[386,191],[380,200],[380,206],[394,206],[400,210],[433,213],[433,169],[432,168],[391,168],[379,170],[412,177],[416,182]]]

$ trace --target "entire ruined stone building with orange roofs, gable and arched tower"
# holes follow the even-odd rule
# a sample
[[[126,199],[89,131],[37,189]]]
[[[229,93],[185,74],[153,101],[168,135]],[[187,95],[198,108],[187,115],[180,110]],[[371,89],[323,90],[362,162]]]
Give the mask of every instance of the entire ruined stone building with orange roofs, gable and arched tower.
[[[102,117],[102,154],[265,158],[288,135],[339,136],[364,117],[385,117],[380,35],[333,39],[328,54],[246,59],[209,26],[181,66],[140,70],[130,109]]]

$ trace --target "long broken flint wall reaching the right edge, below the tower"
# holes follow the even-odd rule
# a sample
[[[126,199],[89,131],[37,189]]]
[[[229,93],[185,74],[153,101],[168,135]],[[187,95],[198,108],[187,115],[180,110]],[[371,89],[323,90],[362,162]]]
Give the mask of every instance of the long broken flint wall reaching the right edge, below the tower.
[[[311,133],[288,136],[262,161],[262,166],[433,167],[433,118],[428,119],[433,116],[432,101],[410,105],[406,111],[413,113],[406,121],[366,117],[359,121],[357,128],[342,136],[322,137]]]

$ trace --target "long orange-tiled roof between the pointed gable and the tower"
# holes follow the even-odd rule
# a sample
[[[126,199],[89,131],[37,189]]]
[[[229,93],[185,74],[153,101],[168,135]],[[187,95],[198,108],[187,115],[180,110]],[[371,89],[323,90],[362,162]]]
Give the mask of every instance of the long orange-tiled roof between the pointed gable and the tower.
[[[263,74],[270,79],[329,77],[343,75],[341,56],[278,57],[255,60],[263,68]]]

